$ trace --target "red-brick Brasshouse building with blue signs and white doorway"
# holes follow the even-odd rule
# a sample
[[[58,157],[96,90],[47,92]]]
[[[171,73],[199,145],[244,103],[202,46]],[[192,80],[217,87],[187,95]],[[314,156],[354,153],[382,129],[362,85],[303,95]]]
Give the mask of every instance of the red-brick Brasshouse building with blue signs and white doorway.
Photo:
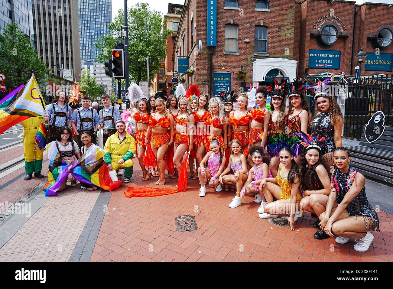
[[[185,78],[185,87],[197,84],[203,92],[216,94],[225,87],[239,91],[268,83],[278,73],[290,79],[354,75],[355,56],[362,48],[367,59],[361,75],[388,74],[393,70],[392,26],[390,4],[185,0],[173,71]],[[186,68],[195,70],[191,76],[184,74],[187,60]],[[239,76],[241,70],[246,74]]]

